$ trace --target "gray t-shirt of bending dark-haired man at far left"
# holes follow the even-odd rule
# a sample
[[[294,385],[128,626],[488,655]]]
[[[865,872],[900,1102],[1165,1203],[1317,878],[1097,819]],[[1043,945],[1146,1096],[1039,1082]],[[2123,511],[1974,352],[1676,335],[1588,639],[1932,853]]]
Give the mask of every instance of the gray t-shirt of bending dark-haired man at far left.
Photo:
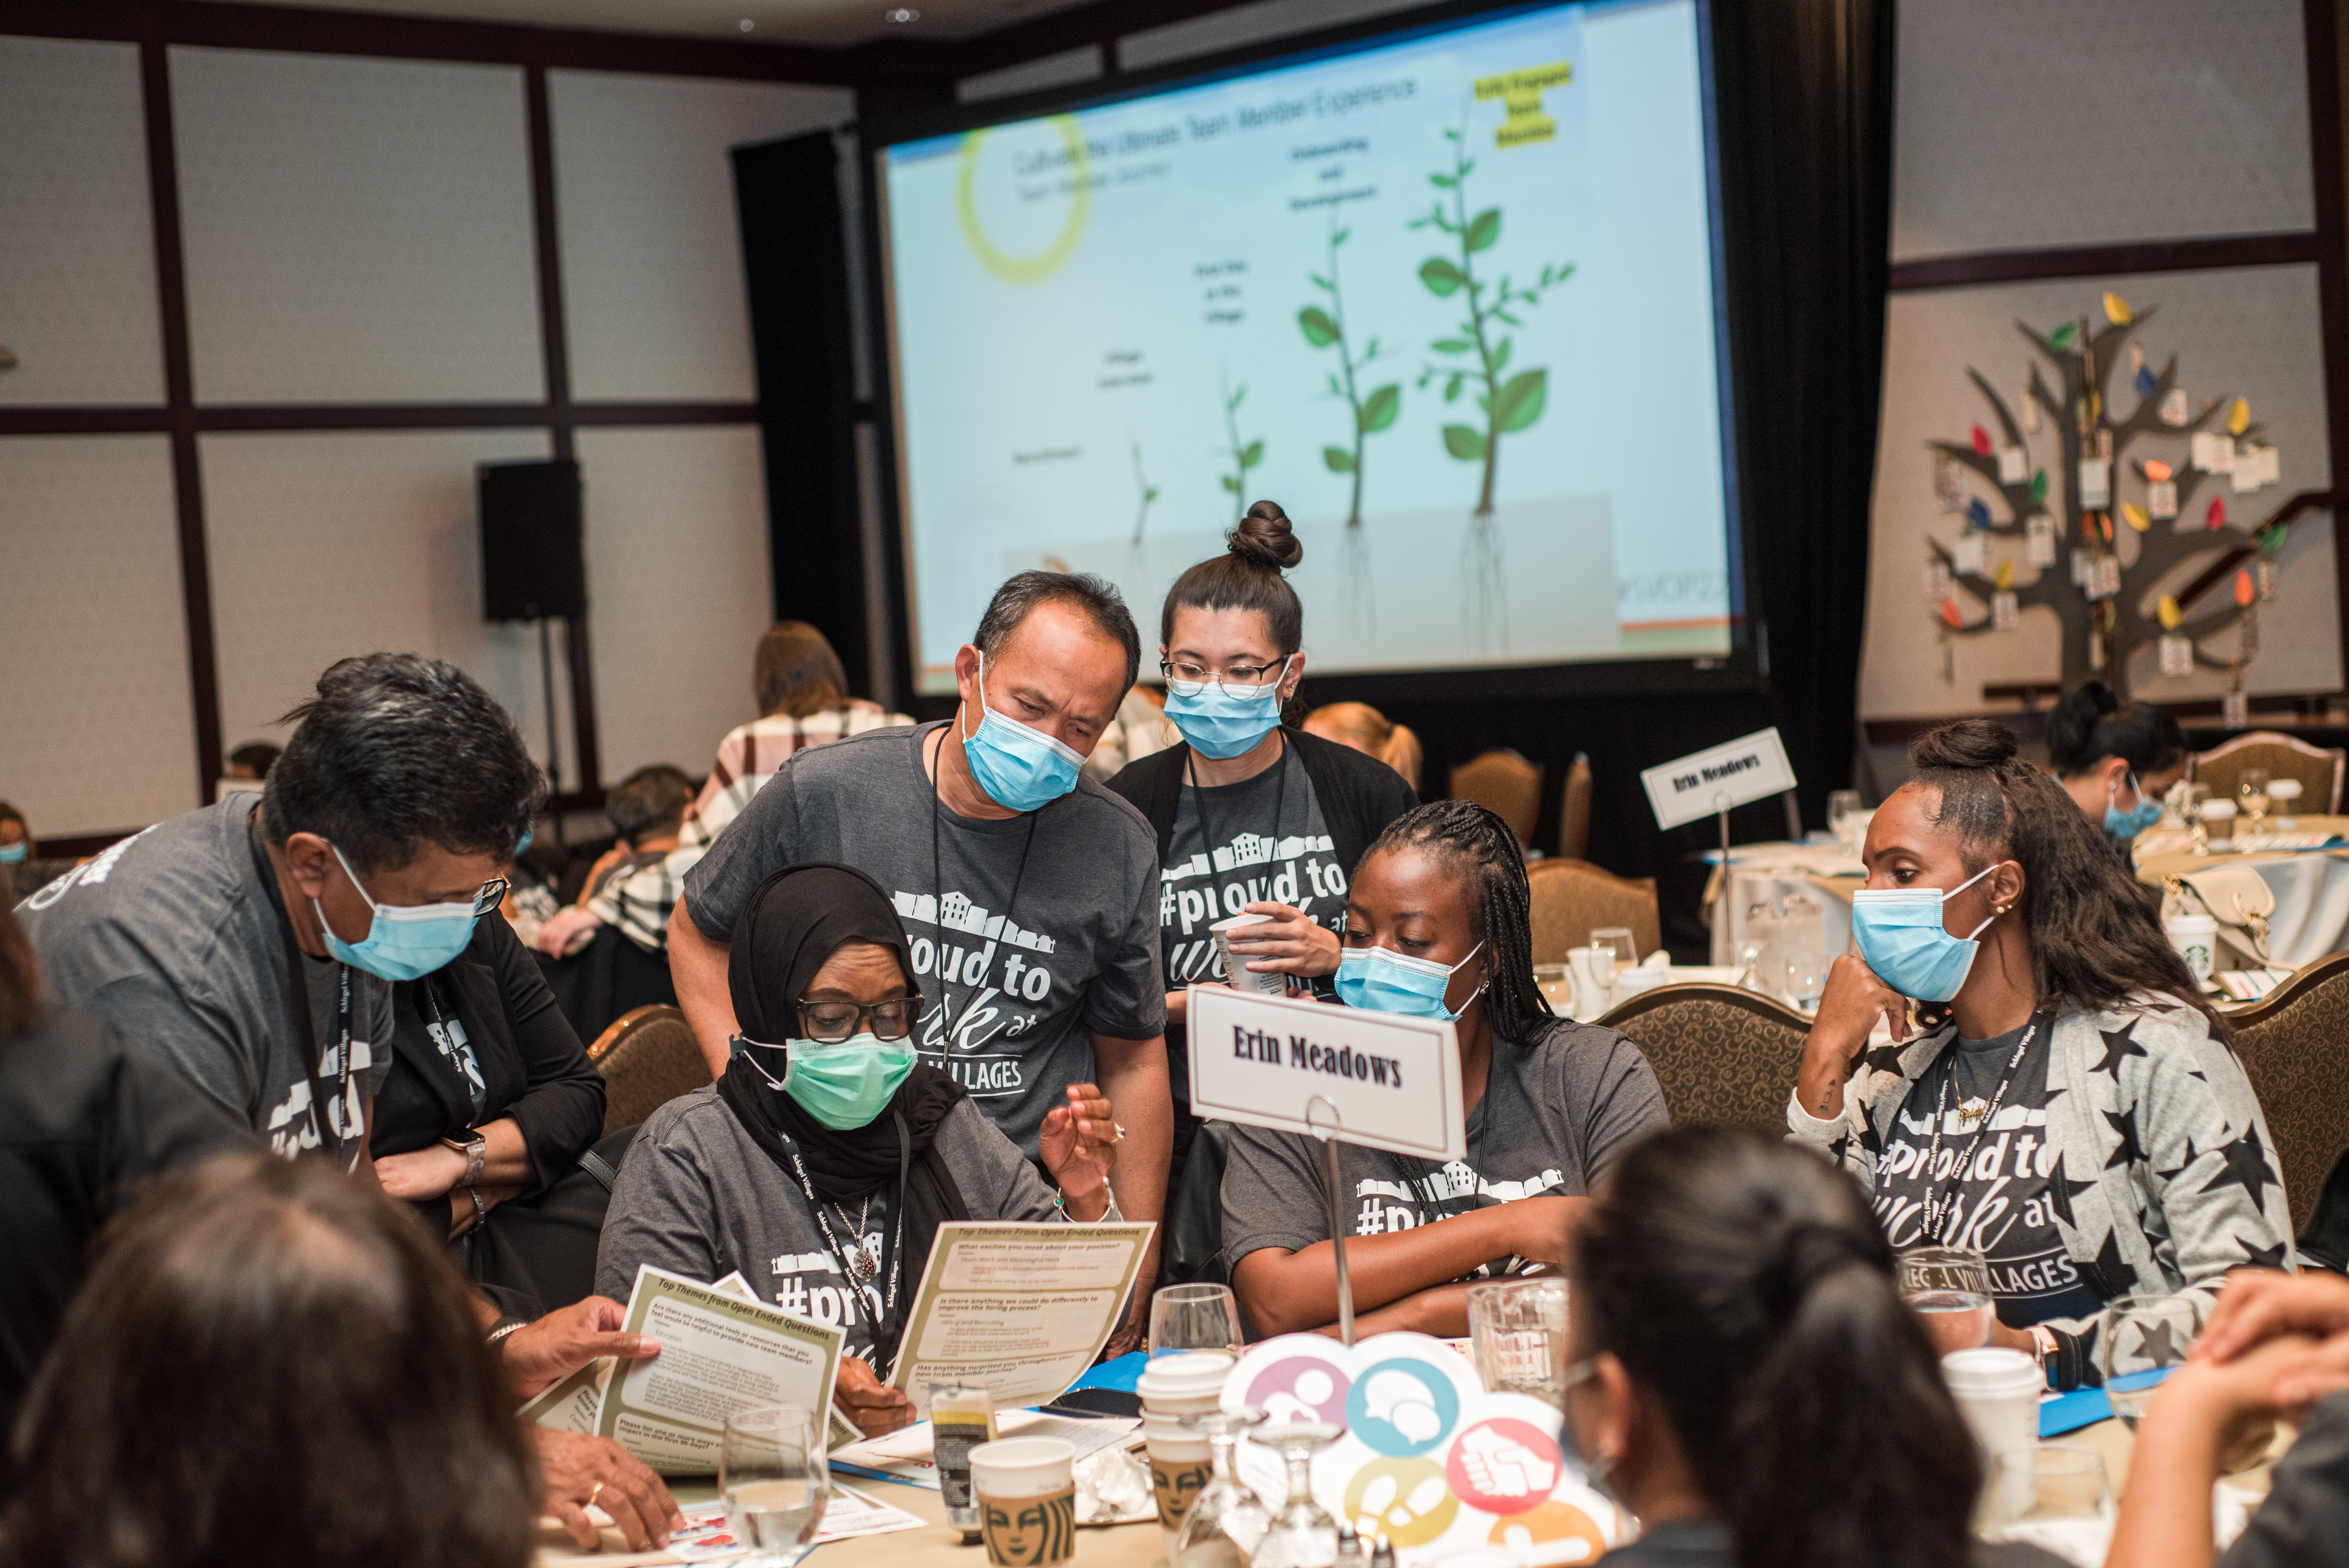
[[[364,1108],[392,1070],[392,986],[305,955],[319,1061],[303,1059],[284,913],[254,861],[258,807],[261,796],[235,793],[157,822],[35,892],[16,918],[54,1000],[106,1016],[280,1155],[329,1148],[355,1162]],[[312,1068],[329,1096],[312,1091]]]

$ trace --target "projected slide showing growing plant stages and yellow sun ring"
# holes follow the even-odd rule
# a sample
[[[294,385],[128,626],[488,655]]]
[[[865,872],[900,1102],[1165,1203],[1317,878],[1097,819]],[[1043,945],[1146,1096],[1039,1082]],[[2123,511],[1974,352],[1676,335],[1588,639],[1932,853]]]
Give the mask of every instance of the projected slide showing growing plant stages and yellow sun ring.
[[[1694,0],[1562,5],[881,150],[921,690],[1031,566],[1167,582],[1259,498],[1306,650],[1729,650]]]

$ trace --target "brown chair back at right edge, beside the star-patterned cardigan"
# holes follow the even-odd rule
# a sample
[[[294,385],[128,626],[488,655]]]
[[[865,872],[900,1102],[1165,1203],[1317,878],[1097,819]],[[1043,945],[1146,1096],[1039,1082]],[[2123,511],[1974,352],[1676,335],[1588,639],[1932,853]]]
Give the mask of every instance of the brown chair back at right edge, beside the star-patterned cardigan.
[[[2349,1075],[2340,1059],[2349,1038],[2349,953],[2304,965],[2232,1023],[2234,1054],[2276,1141],[2269,1153],[2297,1232],[2316,1214],[2326,1171],[2349,1143]]]

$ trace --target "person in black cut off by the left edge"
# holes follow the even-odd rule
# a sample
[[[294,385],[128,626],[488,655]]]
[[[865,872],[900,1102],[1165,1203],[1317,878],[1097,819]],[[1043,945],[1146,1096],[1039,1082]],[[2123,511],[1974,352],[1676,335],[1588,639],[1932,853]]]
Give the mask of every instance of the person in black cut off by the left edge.
[[[148,1176],[247,1143],[113,1023],[42,1002],[33,944],[0,904],[0,1434],[66,1322],[96,1228]]]

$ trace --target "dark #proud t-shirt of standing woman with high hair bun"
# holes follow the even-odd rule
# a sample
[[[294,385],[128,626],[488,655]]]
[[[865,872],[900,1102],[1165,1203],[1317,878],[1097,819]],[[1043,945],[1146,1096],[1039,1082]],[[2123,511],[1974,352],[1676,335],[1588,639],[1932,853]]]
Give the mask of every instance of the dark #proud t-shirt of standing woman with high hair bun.
[[[1193,789],[1186,777],[1174,796],[1174,836],[1160,878],[1158,951],[1167,991],[1224,979],[1207,927],[1250,904],[1290,904],[1332,932],[1346,925],[1346,871],[1294,746],[1283,746],[1278,768],[1238,784]],[[1174,1103],[1186,1106],[1186,1052],[1167,1054],[1167,1077]]]

